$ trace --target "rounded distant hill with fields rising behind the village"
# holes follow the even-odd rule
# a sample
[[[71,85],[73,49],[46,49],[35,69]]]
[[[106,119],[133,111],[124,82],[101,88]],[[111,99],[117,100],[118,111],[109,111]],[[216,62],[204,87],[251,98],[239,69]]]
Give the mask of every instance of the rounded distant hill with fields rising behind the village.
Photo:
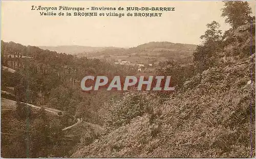
[[[153,63],[166,60],[180,61],[181,63],[193,62],[193,52],[196,49],[195,44],[173,43],[173,42],[148,42],[137,47],[108,48],[103,51],[92,53],[80,53],[78,57],[89,57],[98,59],[109,59],[117,61],[118,59],[136,62]]]

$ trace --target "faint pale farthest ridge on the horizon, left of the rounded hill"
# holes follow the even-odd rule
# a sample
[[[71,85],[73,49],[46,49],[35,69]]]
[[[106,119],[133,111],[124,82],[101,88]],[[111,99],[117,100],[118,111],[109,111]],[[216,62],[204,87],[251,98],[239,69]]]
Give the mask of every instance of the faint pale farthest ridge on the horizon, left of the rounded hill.
[[[104,51],[106,49],[115,49],[115,47],[88,47],[88,46],[39,46],[39,48],[44,50],[56,51],[57,53],[66,54],[83,54]]]

